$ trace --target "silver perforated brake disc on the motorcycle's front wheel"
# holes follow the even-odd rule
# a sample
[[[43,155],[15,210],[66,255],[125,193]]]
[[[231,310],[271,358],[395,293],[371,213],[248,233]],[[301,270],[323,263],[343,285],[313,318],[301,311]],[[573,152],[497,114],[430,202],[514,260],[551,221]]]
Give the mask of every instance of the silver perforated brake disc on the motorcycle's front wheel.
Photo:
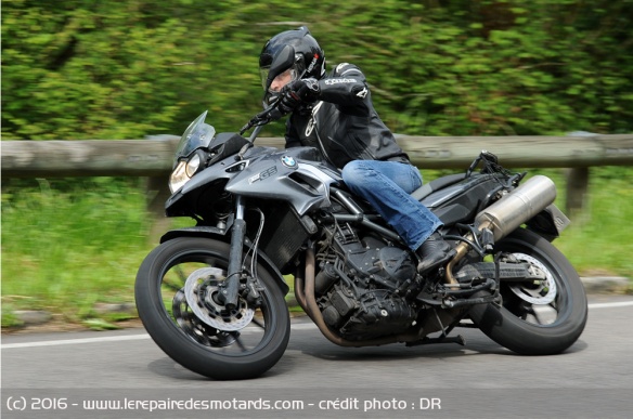
[[[238,299],[235,309],[227,310],[217,298],[224,279],[224,272],[218,267],[194,271],[184,283],[186,303],[205,324],[219,330],[240,330],[253,320],[255,310],[249,309],[243,299]]]

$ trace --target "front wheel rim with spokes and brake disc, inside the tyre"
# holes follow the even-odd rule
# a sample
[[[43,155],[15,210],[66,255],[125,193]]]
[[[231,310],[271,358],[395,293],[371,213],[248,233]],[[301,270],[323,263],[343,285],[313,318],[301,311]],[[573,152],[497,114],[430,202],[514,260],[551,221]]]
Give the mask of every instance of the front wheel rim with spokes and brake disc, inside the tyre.
[[[222,311],[212,297],[227,266],[224,258],[208,251],[175,256],[162,271],[158,292],[173,327],[193,342],[218,355],[246,356],[271,340],[276,314],[261,280],[261,304],[250,306],[240,297],[236,310]]]

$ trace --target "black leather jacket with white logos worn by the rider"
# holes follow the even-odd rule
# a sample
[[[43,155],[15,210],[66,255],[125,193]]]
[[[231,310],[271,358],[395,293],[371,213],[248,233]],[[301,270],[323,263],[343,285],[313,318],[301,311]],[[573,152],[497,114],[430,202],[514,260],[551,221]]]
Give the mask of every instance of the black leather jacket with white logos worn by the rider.
[[[319,80],[321,93],[309,112],[295,110],[286,123],[286,147],[321,149],[339,169],[351,160],[409,162],[374,105],[365,76],[343,63]]]

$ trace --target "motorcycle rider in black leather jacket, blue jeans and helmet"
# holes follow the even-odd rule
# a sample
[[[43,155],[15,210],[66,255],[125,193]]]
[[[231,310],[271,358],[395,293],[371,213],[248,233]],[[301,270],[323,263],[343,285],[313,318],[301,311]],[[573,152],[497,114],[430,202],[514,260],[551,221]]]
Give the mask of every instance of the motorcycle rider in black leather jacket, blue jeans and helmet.
[[[288,53],[288,45],[294,49],[293,63],[271,67],[282,51]],[[263,105],[280,99],[279,109],[290,114],[286,148],[318,147],[325,159],[343,169],[350,191],[369,201],[418,254],[419,273],[454,254],[437,232],[442,222],[411,197],[422,186],[422,175],[378,117],[359,67],[341,63],[326,75],[323,50],[301,26],[272,37],[261,51],[259,68]]]

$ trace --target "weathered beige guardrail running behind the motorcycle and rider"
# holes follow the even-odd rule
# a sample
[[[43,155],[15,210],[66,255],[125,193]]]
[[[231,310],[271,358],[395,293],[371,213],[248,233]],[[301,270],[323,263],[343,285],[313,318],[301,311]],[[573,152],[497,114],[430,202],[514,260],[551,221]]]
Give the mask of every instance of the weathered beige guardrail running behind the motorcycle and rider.
[[[2,178],[150,176],[166,188],[178,136],[146,140],[2,141]],[[466,169],[481,149],[506,168],[570,168],[567,210],[581,208],[594,166],[633,166],[633,134],[568,136],[408,136],[398,143],[421,169]],[[257,145],[282,148],[284,140]],[[160,186],[163,185],[163,186]],[[159,198],[165,194],[160,191]]]

